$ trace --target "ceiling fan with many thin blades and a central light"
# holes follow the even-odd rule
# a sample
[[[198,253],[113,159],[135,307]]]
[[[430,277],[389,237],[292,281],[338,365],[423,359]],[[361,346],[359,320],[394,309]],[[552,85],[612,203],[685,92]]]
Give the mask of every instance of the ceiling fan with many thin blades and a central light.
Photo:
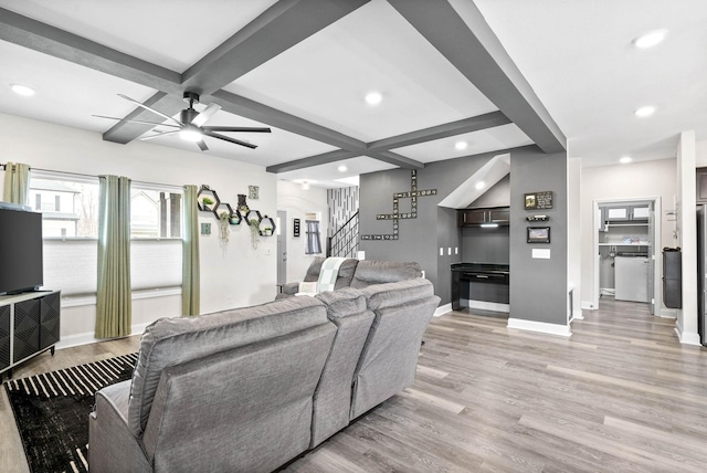
[[[179,135],[182,139],[188,141],[194,141],[199,145],[199,148],[202,151],[209,149],[207,144],[203,141],[204,136],[210,136],[211,138],[222,139],[224,141],[233,143],[235,145],[245,146],[246,148],[255,149],[257,146],[242,141],[240,139],[231,138],[230,136],[221,135],[215,132],[234,132],[234,133],[271,133],[271,129],[267,127],[258,128],[258,127],[242,127],[242,126],[204,126],[204,124],[221,109],[221,106],[214,103],[211,103],[203,109],[203,112],[197,112],[194,109],[194,104],[199,103],[199,94],[194,92],[184,92],[184,102],[189,104],[187,108],[181,111],[180,119],[176,119],[166,115],[161,112],[156,111],[155,108],[148,107],[147,105],[136,101],[135,98],[130,98],[127,95],[118,94],[118,96],[125,98],[126,101],[133,102],[135,105],[143,107],[147,111],[152,112],[156,115],[161,116],[162,118],[169,120],[170,123],[156,123],[156,122],[146,122],[139,119],[124,119],[116,117],[106,117],[103,115],[94,115],[98,118],[108,118],[116,119],[119,122],[127,123],[137,123],[140,125],[155,125],[155,126],[166,126],[170,128],[177,128],[169,132],[156,132],[156,135],[146,136],[141,139],[152,139],[160,136],[170,136],[170,135]]]

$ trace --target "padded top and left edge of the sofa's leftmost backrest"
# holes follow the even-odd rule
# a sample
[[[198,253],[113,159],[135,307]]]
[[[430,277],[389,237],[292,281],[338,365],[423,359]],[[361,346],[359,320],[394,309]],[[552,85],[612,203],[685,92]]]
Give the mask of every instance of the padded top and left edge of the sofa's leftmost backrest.
[[[327,323],[326,307],[313,297],[156,320],[140,339],[130,387],[130,431],[139,435],[145,430],[166,367]]]

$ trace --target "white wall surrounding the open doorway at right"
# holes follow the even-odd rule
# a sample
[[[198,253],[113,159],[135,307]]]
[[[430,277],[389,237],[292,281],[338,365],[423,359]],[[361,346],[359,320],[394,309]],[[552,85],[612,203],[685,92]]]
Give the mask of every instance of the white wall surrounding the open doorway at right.
[[[582,169],[581,197],[581,252],[582,252],[582,307],[589,308],[597,288],[594,287],[594,257],[592,236],[594,200],[622,200],[659,197],[662,202],[661,241],[655,243],[656,252],[664,246],[676,246],[673,238],[674,222],[666,211],[674,208],[677,193],[676,160],[659,159],[655,161],[633,162],[629,165],[585,167]],[[657,217],[657,216],[656,216]],[[655,266],[662,274],[662,260]],[[656,290],[661,290],[656,287]],[[597,308],[597,307],[594,307]],[[656,307],[661,311],[662,307]]]

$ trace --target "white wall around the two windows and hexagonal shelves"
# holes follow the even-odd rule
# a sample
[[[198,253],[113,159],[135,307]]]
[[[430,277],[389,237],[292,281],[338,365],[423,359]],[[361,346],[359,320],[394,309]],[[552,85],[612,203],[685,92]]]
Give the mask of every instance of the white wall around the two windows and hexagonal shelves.
[[[264,167],[133,141],[104,141],[97,133],[0,114],[0,162],[25,162],[39,169],[92,176],[119,175],[133,180],[173,186],[211,186],[221,201],[235,204],[247,186],[260,186],[260,199],[249,200],[251,209],[275,218],[276,175]],[[234,153],[247,153],[236,149]],[[2,179],[0,179],[0,187]],[[1,189],[0,189],[1,190]],[[326,202],[326,198],[325,198]],[[235,206],[233,206],[235,207]],[[326,213],[325,213],[326,216]],[[211,235],[202,235],[201,312],[247,306],[271,301],[276,294],[275,236],[262,236],[257,250],[251,246],[245,223],[231,227],[228,245],[219,242],[218,221],[203,212],[200,222],[211,222]],[[61,287],[53,287],[61,290]],[[137,298],[133,303],[134,330],[159,317],[181,314],[181,296]],[[93,340],[95,305],[63,302],[63,346]]]

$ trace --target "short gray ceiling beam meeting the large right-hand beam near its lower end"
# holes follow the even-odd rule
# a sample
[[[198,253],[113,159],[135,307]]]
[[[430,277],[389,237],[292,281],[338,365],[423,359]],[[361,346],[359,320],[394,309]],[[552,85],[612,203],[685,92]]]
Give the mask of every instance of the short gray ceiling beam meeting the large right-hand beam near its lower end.
[[[449,138],[450,136],[463,135],[465,133],[479,132],[482,129],[493,128],[496,126],[507,125],[510,120],[500,112],[490,112],[471,118],[464,118],[458,122],[446,123],[433,126],[418,132],[405,133],[403,135],[392,136],[390,138],[371,141],[368,149],[395,149],[403,146],[419,145],[420,143],[432,141],[435,139]]]

